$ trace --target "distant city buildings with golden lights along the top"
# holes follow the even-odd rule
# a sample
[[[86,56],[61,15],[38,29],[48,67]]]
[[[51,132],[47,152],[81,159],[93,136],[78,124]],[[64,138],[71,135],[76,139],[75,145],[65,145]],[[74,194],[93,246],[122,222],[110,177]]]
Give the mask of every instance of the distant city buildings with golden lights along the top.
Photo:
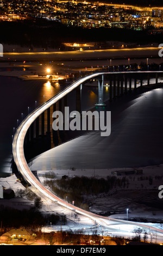
[[[118,27],[142,30],[163,27],[163,8],[86,1],[0,0],[0,20],[42,17],[66,26],[82,28]]]

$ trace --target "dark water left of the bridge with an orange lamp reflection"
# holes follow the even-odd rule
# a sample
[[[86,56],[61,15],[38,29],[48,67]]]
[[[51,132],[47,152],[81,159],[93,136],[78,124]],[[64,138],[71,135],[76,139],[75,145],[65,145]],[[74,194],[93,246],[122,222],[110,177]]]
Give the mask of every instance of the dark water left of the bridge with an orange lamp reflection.
[[[0,89],[0,176],[4,176],[11,172],[12,135],[22,118],[28,114],[28,107],[29,112],[33,111],[35,106],[50,99],[62,87],[57,84],[50,86],[46,81],[21,81],[15,77],[0,77]]]

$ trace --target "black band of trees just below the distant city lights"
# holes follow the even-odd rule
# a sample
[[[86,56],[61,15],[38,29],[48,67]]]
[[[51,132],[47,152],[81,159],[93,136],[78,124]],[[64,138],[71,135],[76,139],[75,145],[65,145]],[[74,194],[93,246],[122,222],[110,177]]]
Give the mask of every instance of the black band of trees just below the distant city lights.
[[[24,21],[1,21],[0,41],[2,44],[16,44],[21,47],[60,48],[65,50],[62,42],[105,42],[126,41],[134,43],[160,42],[161,35],[149,35],[148,31],[134,31],[122,28],[80,28],[67,27],[57,21],[45,19]]]

